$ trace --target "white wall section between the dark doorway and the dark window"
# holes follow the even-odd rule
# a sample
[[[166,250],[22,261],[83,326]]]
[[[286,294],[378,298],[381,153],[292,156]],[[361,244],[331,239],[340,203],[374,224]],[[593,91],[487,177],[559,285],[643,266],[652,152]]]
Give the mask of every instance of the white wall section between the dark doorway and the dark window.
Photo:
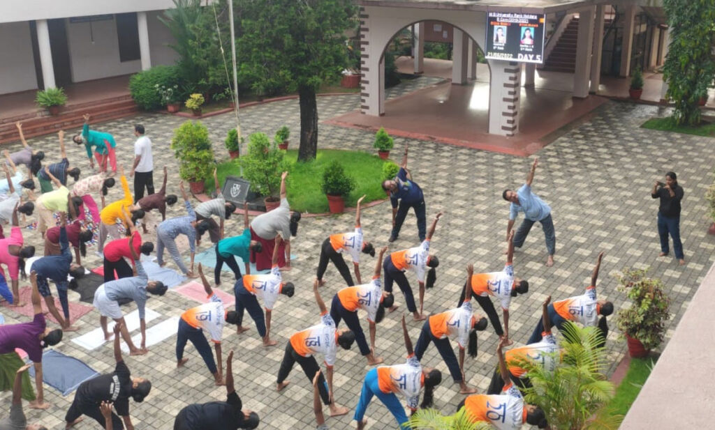
[[[90,24],[92,29],[90,30]],[[117,23],[107,21],[66,22],[72,82],[127,75],[142,70],[142,61],[119,61]]]

